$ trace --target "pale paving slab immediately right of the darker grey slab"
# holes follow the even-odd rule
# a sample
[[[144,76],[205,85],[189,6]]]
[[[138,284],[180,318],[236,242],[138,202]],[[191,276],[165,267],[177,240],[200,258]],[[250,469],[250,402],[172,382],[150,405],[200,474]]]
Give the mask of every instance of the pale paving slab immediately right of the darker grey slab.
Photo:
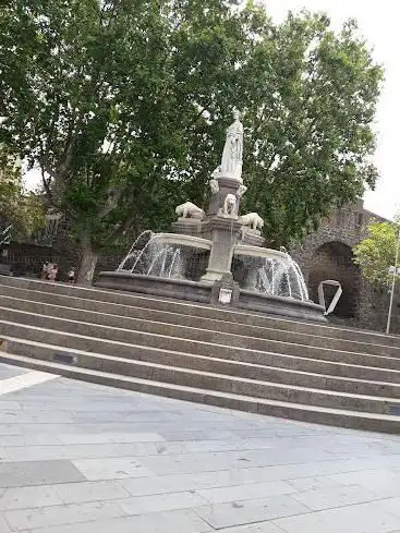
[[[88,481],[147,477],[154,473],[135,458],[82,459],[72,461]],[[81,480],[80,480],[81,481]]]

